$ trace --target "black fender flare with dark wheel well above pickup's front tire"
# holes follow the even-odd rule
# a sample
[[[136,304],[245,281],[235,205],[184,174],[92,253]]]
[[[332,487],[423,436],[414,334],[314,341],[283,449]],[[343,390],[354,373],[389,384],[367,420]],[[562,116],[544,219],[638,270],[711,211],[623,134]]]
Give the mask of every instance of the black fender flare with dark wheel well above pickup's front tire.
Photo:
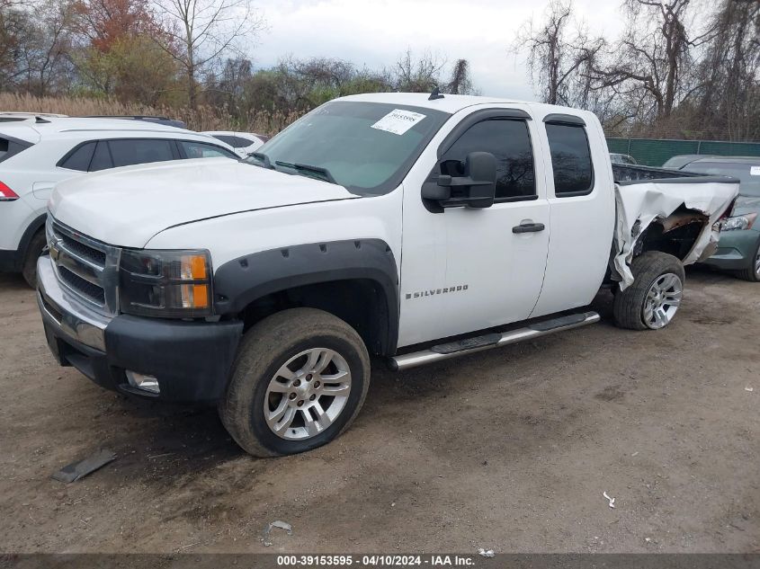
[[[292,307],[325,310],[362,336],[371,353],[398,344],[398,270],[380,239],[300,244],[250,253],[214,271],[214,308],[246,328]]]

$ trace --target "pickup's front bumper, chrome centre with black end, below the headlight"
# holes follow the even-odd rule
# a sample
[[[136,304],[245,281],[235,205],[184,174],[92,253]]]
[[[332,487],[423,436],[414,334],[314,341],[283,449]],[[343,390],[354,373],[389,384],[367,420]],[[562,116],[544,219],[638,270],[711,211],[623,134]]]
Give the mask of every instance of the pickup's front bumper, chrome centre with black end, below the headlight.
[[[227,387],[241,322],[109,318],[61,288],[48,255],[37,263],[37,303],[50,351],[107,389],[176,402],[214,402]],[[153,376],[159,394],[130,386],[126,370]]]

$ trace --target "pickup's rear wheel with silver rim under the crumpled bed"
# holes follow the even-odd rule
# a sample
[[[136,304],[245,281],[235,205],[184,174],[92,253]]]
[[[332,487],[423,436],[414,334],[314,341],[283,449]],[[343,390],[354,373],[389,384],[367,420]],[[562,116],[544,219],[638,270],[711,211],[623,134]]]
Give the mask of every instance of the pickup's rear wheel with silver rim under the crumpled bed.
[[[615,295],[615,324],[629,330],[657,330],[670,324],[681,302],[684,265],[673,255],[648,251],[630,263],[630,271],[633,284]]]

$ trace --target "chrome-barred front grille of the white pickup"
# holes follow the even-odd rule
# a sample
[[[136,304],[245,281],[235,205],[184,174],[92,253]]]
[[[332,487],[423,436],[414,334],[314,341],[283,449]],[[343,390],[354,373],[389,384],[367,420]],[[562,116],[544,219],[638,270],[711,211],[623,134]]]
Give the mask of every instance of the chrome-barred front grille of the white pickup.
[[[84,236],[52,216],[46,231],[58,282],[103,315],[117,314],[121,249]]]

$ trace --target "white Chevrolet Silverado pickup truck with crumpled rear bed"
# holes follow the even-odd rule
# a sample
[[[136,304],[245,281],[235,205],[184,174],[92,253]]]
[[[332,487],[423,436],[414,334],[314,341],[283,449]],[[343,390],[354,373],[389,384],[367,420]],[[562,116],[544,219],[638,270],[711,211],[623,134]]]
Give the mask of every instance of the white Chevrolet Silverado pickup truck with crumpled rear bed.
[[[256,456],[344,431],[371,354],[407,369],[594,323],[604,286],[619,325],[662,328],[738,191],[616,182],[590,112],[437,93],[327,102],[249,161],[60,183],[38,300],[61,365],[216,403]]]

